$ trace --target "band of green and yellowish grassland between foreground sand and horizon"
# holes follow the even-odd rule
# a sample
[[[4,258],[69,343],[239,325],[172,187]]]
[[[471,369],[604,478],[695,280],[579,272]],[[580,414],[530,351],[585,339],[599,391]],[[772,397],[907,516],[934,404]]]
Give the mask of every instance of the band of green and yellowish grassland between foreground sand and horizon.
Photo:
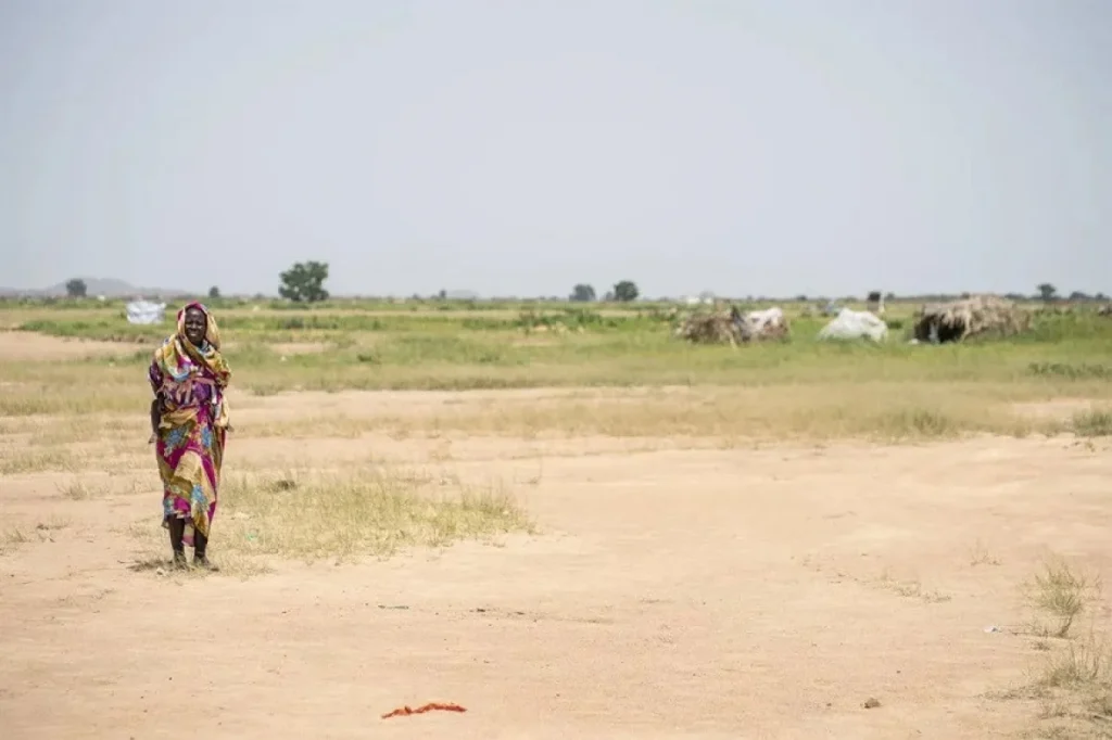
[[[237,392],[689,389],[646,393],[636,403],[587,394],[559,408],[409,418],[407,431],[757,439],[1109,431],[1101,409],[1073,419],[1015,413],[1023,402],[1112,398],[1112,320],[1094,311],[1039,316],[1030,334],[1009,340],[927,347],[907,342],[913,307],[897,304],[886,317],[888,341],[874,346],[820,342],[815,336],[825,319],[800,318],[802,304],[782,304],[792,322],[787,342],[731,348],[673,338],[676,311],[659,304],[279,306],[212,307]],[[0,360],[0,379],[8,384],[0,414],[8,418],[141,413],[150,351],[171,331],[169,322],[130,326],[121,304],[93,301],[7,304],[0,326],[17,332],[12,340],[36,332],[127,348],[112,357],[81,358],[76,351],[66,361]]]

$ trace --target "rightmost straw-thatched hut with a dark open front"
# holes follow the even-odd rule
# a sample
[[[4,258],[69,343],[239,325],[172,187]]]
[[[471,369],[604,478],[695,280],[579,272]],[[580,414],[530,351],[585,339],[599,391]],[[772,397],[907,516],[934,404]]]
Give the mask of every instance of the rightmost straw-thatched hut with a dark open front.
[[[932,344],[960,342],[971,337],[1009,337],[1031,328],[1031,313],[995,296],[923,306],[915,314],[914,337]]]

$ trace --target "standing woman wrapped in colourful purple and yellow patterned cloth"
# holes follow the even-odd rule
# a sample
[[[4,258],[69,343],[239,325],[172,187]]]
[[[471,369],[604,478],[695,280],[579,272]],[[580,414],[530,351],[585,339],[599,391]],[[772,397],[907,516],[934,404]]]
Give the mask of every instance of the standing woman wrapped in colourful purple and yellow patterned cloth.
[[[228,432],[224,392],[231,371],[220,354],[220,331],[208,309],[195,301],[178,312],[178,330],[155,352],[149,377],[162,526],[170,530],[173,564],[186,567],[189,544],[195,566],[217,570],[207,548]]]

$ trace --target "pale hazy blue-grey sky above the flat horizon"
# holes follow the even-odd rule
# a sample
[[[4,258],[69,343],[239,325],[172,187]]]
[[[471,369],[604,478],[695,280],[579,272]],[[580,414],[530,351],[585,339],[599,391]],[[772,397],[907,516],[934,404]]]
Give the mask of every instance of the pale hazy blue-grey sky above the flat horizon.
[[[1110,0],[0,0],[0,284],[1112,292]]]

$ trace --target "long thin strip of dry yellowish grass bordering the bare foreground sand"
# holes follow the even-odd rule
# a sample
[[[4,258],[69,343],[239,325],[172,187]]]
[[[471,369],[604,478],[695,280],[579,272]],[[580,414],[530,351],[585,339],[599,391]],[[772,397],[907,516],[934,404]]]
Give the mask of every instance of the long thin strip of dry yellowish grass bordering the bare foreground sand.
[[[880,442],[955,439],[967,433],[1053,432],[1059,423],[1011,412],[1011,392],[954,384],[939,398],[927,383],[861,387],[658,388],[585,390],[502,398],[460,396],[456,403],[421,402],[365,411],[337,408],[302,419],[242,423],[248,437],[358,437],[463,432],[532,438],[538,434],[742,440],[865,439]]]

